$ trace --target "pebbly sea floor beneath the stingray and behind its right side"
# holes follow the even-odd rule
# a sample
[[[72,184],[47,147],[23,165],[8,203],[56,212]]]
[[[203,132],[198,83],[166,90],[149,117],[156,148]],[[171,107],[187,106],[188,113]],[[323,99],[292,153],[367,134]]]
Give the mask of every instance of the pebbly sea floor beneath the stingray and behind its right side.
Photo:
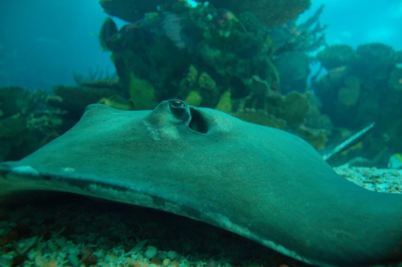
[[[402,171],[335,171],[370,190],[402,192]],[[309,266],[206,223],[147,208],[59,193],[28,205],[0,204],[0,267],[91,265]]]

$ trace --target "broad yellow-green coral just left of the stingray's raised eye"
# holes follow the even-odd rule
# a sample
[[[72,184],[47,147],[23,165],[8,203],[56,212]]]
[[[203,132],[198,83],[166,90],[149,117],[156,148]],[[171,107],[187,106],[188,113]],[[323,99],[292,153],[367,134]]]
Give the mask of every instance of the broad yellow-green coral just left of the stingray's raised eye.
[[[155,89],[145,79],[140,79],[130,72],[129,93],[134,110],[153,109],[158,105]]]

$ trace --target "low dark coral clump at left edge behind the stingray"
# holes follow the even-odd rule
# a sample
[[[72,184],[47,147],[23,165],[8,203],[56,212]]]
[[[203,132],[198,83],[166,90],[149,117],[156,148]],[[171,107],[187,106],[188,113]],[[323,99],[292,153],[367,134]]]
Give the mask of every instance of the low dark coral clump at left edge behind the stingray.
[[[0,88],[0,161],[21,159],[69,128],[65,112],[50,101],[42,90]]]

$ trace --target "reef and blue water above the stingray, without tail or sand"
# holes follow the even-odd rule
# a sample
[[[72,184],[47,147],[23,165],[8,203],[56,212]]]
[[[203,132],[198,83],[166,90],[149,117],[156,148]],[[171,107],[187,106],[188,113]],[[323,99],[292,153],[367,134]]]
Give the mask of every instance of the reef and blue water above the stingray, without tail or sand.
[[[328,162],[401,166],[400,2],[171,2],[0,3],[0,100],[14,102],[1,107],[0,159],[61,135],[89,104],[180,98],[318,150],[375,122]]]

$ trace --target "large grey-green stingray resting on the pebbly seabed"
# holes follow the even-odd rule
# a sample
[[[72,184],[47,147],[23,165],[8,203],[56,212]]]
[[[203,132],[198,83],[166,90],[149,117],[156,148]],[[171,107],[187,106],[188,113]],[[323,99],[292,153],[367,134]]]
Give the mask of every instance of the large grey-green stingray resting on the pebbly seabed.
[[[320,266],[402,257],[402,194],[337,175],[306,141],[224,112],[94,104],[62,136],[0,165],[0,201],[62,191],[203,221]]]

